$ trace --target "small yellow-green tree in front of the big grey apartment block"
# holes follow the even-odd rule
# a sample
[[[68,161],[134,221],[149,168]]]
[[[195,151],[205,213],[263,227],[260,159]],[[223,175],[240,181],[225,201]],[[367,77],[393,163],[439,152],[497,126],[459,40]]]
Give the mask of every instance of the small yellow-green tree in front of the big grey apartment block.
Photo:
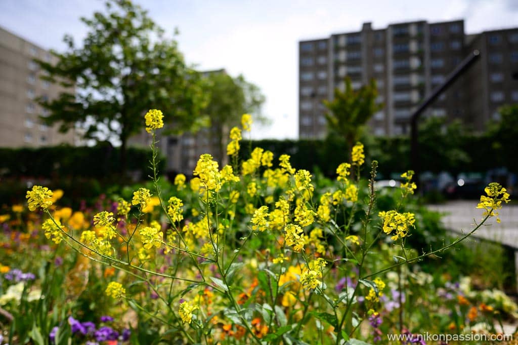
[[[329,131],[343,137],[350,150],[362,135],[367,121],[382,106],[376,104],[378,90],[375,80],[372,79],[358,90],[352,88],[349,77],[344,82],[345,90],[336,88],[334,99],[324,100],[324,105],[328,109],[325,116]]]

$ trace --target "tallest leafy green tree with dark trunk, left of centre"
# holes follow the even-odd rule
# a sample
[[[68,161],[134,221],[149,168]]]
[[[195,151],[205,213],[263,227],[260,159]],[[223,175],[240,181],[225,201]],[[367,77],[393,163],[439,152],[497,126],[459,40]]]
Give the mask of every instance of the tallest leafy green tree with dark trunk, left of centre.
[[[85,139],[103,139],[104,133],[119,140],[124,173],[127,140],[142,130],[149,109],[161,109],[175,129],[188,129],[198,123],[207,97],[176,41],[165,38],[141,7],[110,0],[105,13],[81,21],[89,27],[82,46],[65,35],[68,50],[52,51],[57,63],[38,61],[46,80],[68,88],[55,100],[39,100],[50,111],[43,120],[60,123],[61,131],[79,123]]]

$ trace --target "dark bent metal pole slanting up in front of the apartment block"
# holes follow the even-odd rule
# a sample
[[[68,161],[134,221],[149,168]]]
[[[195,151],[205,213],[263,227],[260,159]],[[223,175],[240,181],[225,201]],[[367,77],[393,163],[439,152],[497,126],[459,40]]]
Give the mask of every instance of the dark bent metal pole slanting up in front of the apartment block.
[[[410,130],[411,130],[411,138],[410,138],[410,159],[411,166],[414,171],[414,181],[420,186],[420,162],[419,162],[419,141],[418,141],[418,121],[421,117],[421,114],[425,111],[425,109],[433,103],[439,95],[447,89],[459,76],[461,76],[466,70],[480,57],[480,51],[473,50],[468,57],[466,57],[452,73],[448,75],[446,80],[435,90],[431,92],[431,94],[419,105],[417,109],[413,112],[410,120]]]

